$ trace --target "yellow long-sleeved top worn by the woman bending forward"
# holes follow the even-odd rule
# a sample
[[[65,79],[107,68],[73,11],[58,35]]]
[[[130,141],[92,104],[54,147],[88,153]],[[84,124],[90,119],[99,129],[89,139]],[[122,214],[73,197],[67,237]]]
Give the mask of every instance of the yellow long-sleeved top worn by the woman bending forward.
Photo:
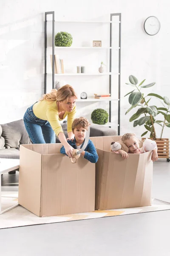
[[[37,116],[37,118],[40,118],[42,120],[47,120],[50,123],[52,129],[54,130],[55,134],[58,136],[60,132],[63,132],[59,121],[65,119],[66,116],[68,116],[67,132],[72,131],[71,125],[73,123],[74,116],[76,114],[76,106],[71,112],[65,111],[63,119],[59,119],[56,102],[57,101],[49,102],[45,99],[40,102],[36,102],[33,106],[33,112],[34,112],[34,115]]]

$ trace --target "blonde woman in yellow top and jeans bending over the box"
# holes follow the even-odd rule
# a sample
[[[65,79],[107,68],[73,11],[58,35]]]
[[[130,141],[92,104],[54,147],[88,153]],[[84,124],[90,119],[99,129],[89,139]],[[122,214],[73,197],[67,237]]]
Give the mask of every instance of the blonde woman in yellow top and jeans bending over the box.
[[[44,94],[39,102],[28,108],[23,120],[32,143],[55,143],[56,134],[66,154],[72,157],[73,147],[67,143],[59,121],[67,116],[68,138],[73,139],[71,126],[76,113],[76,99],[77,94],[73,87],[66,84],[58,90],[53,89],[51,93]]]

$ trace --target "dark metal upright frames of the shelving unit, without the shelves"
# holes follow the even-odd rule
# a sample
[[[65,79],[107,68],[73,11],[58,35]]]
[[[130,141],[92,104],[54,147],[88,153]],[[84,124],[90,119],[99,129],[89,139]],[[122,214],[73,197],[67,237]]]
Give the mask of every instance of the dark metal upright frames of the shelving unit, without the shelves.
[[[52,15],[52,89],[54,89],[54,12],[45,12],[45,72],[44,72],[44,93],[47,92],[47,15]],[[108,48],[110,51],[110,64],[109,64],[109,93],[112,95],[112,86],[111,86],[111,76],[112,76],[112,23],[113,16],[119,16],[119,79],[118,79],[118,135],[120,135],[120,78],[121,78],[121,13],[112,13],[110,21],[110,47]],[[56,21],[57,22],[57,21]],[[58,21],[59,22],[59,21]],[[65,21],[61,21],[65,22]],[[67,21],[68,22],[68,21]],[[90,21],[82,21],[82,22],[90,22]],[[81,48],[81,47],[80,47]],[[89,47],[87,47],[88,49]],[[59,74],[58,74],[59,75]],[[64,74],[63,74],[64,75]],[[111,100],[109,101],[109,123],[111,123]]]

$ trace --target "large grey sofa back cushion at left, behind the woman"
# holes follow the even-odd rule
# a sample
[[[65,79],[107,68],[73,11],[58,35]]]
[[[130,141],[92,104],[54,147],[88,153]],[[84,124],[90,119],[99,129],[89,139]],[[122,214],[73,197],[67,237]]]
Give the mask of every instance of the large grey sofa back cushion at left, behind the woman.
[[[19,148],[20,144],[30,143],[23,119],[3,124],[1,126],[6,148]]]

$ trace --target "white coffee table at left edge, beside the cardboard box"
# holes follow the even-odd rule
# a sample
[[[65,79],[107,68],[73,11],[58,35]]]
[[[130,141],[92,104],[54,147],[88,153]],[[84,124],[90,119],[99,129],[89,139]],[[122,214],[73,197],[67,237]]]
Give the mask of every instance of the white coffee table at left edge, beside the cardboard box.
[[[18,169],[19,164],[20,164],[19,159],[0,158],[0,214],[7,212],[8,210],[13,209],[14,207],[17,207],[19,205],[19,204],[15,204],[14,206],[9,207],[3,211],[1,207],[1,198],[3,197],[1,195],[1,175]]]

